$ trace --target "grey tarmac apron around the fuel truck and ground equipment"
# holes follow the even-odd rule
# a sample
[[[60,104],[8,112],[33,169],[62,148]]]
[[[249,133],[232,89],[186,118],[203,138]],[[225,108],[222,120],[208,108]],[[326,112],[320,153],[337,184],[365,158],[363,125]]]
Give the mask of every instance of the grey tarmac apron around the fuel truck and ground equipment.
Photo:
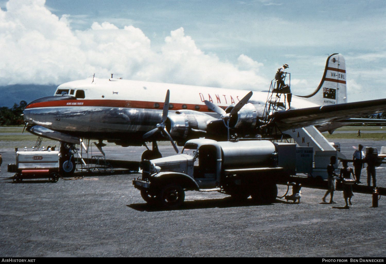
[[[383,141],[340,140],[353,146]],[[18,142],[15,142],[17,146]],[[22,147],[22,146],[19,146]],[[144,147],[105,147],[108,159],[139,160]],[[171,155],[173,148],[160,146]],[[372,196],[354,193],[344,208],[322,202],[325,190],[302,188],[300,204],[277,199],[269,205],[232,201],[217,192],[186,192],[178,210],[149,206],[132,180],[140,174],[84,174],[77,180],[6,177],[15,162],[12,148],[0,149],[1,257],[385,257],[386,198],[372,208]],[[349,164],[352,166],[352,164]],[[386,186],[386,165],[377,168]],[[81,176],[77,173],[76,176]],[[366,182],[366,169],[361,180]],[[279,185],[279,196],[286,186]],[[291,193],[291,190],[289,190]],[[327,197],[329,199],[329,197]]]

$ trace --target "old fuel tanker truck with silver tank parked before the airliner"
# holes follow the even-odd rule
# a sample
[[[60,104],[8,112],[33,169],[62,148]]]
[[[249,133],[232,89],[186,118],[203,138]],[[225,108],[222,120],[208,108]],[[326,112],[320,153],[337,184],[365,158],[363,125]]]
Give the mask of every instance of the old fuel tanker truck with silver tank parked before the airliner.
[[[296,144],[192,139],[181,154],[143,160],[140,167],[142,178],[133,184],[147,203],[178,208],[185,191],[218,191],[237,200],[251,196],[271,203],[276,184],[296,174]]]

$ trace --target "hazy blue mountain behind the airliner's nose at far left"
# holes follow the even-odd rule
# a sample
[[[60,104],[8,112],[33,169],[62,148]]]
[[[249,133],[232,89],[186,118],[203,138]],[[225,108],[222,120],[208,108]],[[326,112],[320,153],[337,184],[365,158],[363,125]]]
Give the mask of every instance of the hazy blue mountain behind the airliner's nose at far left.
[[[0,107],[13,107],[20,101],[27,103],[37,98],[54,95],[58,85],[7,85],[0,86]]]

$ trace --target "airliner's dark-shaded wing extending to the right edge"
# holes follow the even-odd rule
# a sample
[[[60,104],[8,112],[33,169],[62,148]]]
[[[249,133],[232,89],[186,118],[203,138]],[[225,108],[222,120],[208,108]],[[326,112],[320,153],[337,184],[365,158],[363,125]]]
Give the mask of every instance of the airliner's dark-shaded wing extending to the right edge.
[[[273,121],[283,130],[341,122],[386,111],[386,98],[370,101],[323,105],[294,110],[278,111],[271,115]],[[346,121],[347,122],[347,121]]]

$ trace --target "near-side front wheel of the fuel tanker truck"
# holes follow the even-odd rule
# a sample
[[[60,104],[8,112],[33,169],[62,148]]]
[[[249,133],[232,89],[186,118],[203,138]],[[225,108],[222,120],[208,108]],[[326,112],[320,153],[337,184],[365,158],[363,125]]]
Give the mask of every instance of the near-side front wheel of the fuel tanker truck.
[[[158,200],[162,206],[176,209],[185,200],[185,191],[178,184],[167,184],[159,192]]]

